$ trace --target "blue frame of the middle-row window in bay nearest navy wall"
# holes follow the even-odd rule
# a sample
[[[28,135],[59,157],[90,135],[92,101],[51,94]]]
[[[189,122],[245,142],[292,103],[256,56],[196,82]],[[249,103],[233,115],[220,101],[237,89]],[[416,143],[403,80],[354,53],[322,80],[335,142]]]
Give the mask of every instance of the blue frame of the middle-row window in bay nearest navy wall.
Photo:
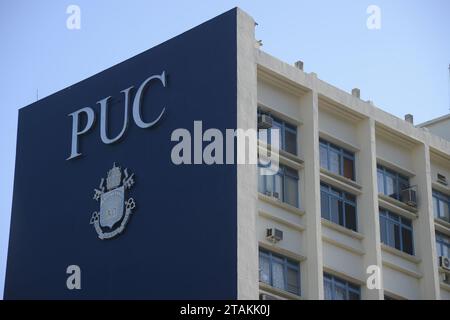
[[[262,168],[262,166],[258,165],[258,168]],[[296,174],[293,174],[293,172],[295,172]],[[260,179],[262,179],[262,184],[263,184],[262,188],[261,188],[261,186],[258,186],[258,190],[260,190],[261,193],[265,194],[266,192],[274,192],[274,190],[267,190],[267,179],[272,179],[272,188],[275,189],[274,186],[276,184],[275,183],[276,182],[276,177],[277,176],[281,177],[281,180],[282,180],[281,188],[282,188],[282,190],[279,192],[279,194],[280,194],[280,198],[279,199],[282,202],[287,203],[287,204],[289,204],[289,205],[291,205],[293,207],[296,207],[296,208],[300,207],[300,196],[299,196],[299,190],[300,190],[299,180],[300,180],[300,178],[299,178],[298,170],[293,169],[293,168],[291,168],[289,166],[280,164],[278,172],[276,174],[274,174],[274,175],[262,175],[261,172],[260,172],[260,169],[259,169],[258,170],[258,175],[259,175],[258,183],[260,183],[261,182]],[[296,185],[295,205],[286,202],[286,193],[285,193],[286,192],[286,178],[295,180],[295,185]],[[275,192],[277,192],[277,191],[275,191]]]

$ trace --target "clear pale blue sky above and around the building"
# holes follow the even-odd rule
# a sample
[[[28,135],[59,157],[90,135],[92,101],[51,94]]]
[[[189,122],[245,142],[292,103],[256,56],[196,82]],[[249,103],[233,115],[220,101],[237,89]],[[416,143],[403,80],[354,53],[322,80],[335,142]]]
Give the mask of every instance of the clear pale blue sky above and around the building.
[[[81,8],[80,30],[66,28],[71,4]],[[380,30],[366,27],[372,4]],[[417,123],[449,112],[448,0],[1,1],[0,297],[17,110],[37,91],[52,94],[235,6],[259,23],[263,50],[281,60],[303,60],[305,71],[347,91],[359,87],[363,99]]]

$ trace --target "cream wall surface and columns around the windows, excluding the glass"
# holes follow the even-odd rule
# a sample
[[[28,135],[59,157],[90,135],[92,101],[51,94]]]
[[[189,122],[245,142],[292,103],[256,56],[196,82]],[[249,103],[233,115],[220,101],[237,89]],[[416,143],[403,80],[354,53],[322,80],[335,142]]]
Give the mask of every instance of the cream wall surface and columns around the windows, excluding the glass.
[[[294,210],[258,196],[259,246],[299,262],[304,299],[324,298],[324,272],[360,285],[362,299],[383,299],[385,294],[403,299],[448,299],[449,291],[439,279],[436,264],[431,190],[437,171],[450,178],[450,143],[258,49],[256,61],[254,108],[270,110],[297,125],[300,152],[287,164],[295,163],[298,169],[301,198],[300,208]],[[319,136],[355,152],[355,182],[320,169]],[[446,155],[444,160],[435,160],[430,150],[439,150]],[[417,209],[378,195],[377,164],[407,175],[418,186]],[[357,196],[358,232],[343,230],[321,218],[323,179]],[[379,206],[413,221],[416,255],[381,244]],[[283,230],[284,239],[275,244],[267,241],[265,231],[269,227]],[[381,270],[378,290],[366,287],[366,269],[370,266]],[[295,298],[262,284],[260,292]]]

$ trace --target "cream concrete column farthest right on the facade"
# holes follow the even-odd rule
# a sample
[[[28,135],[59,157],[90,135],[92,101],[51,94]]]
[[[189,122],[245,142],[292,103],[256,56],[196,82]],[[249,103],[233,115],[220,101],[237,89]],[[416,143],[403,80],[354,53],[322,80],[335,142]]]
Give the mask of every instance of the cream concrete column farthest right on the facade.
[[[414,221],[414,248],[421,259],[419,266],[423,274],[420,280],[422,299],[440,299],[439,272],[436,254],[436,236],[431,188],[430,148],[426,144],[412,151],[414,172],[411,185],[417,185],[418,219]]]

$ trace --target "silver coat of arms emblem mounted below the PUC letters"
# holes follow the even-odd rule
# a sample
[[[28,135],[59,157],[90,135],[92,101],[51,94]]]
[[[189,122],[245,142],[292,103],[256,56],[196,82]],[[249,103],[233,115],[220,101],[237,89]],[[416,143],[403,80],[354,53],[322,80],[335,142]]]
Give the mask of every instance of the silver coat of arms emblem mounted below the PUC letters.
[[[123,174],[123,178],[122,178]],[[94,200],[100,201],[100,212],[94,212],[90,224],[93,224],[100,239],[111,239],[125,229],[136,203],[133,198],[125,200],[126,191],[134,185],[134,173],[113,164],[105,179],[102,178],[98,189],[94,189]]]

